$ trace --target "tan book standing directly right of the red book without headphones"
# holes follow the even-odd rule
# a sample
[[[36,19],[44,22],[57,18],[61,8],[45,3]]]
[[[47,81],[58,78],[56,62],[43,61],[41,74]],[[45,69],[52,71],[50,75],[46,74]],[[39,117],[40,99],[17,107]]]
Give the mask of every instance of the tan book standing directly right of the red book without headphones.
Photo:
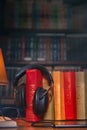
[[[77,119],[85,119],[85,71],[76,71]]]

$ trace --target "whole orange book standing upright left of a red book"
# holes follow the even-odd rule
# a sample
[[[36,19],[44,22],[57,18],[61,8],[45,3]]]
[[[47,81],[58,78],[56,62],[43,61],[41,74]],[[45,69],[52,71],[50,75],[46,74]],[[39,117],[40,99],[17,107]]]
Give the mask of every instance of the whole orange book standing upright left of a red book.
[[[64,109],[64,86],[63,86],[63,73],[61,71],[54,70],[53,80],[54,80],[54,119],[64,120],[65,119],[65,109]]]

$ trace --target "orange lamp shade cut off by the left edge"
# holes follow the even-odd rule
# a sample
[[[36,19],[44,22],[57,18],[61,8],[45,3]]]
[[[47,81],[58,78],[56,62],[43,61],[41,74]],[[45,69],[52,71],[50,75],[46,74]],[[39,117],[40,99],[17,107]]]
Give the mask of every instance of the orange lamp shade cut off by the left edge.
[[[0,85],[6,85],[8,83],[4,58],[2,55],[2,50],[0,48]]]

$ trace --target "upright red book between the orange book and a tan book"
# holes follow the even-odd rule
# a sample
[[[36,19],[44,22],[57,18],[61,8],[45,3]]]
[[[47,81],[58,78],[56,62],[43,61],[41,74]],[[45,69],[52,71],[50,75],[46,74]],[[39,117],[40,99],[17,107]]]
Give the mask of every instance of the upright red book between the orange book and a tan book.
[[[65,100],[65,119],[76,120],[76,86],[75,72],[64,72],[64,100]]]

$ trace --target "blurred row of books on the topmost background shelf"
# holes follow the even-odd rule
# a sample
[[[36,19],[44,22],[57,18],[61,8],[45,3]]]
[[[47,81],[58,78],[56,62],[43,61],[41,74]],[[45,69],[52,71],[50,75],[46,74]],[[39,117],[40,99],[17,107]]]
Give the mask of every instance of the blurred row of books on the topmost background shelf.
[[[72,8],[60,1],[7,1],[4,26],[13,28],[71,29]]]

